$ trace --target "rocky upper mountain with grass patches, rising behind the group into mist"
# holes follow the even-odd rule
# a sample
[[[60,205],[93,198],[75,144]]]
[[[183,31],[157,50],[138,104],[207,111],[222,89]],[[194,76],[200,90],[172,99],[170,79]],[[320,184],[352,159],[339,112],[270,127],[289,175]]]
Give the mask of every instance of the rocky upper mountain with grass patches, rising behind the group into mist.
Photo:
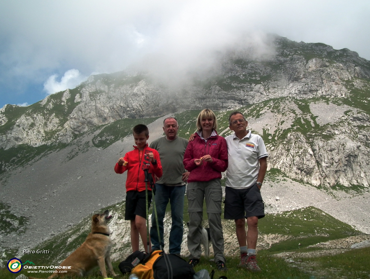
[[[273,48],[268,58],[225,54],[212,74],[195,75],[176,88],[145,73],[121,72],[91,76],[28,107],[6,105],[0,109],[0,149],[69,143],[122,118],[253,105],[259,118],[252,129],[273,148],[270,168],[313,185],[367,187],[370,62],[347,49],[282,37],[274,38]],[[268,105],[277,98],[284,101]],[[332,109],[340,118],[328,113]]]

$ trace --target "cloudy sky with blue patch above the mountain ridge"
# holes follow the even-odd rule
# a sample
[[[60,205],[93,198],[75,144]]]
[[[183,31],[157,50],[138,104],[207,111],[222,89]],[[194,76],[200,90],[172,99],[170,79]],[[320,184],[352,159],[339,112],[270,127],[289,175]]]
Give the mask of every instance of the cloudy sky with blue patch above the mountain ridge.
[[[148,56],[174,69],[206,64],[209,53],[266,33],[370,60],[369,14],[368,0],[1,1],[0,107],[35,103]]]

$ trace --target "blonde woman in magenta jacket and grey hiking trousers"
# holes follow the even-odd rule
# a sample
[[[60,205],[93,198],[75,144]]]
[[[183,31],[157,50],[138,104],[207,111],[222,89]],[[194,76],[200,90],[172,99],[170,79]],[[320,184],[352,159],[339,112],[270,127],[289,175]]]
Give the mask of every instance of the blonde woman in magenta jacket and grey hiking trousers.
[[[189,142],[184,155],[185,169],[190,172],[186,195],[188,197],[189,263],[194,267],[202,254],[203,200],[206,200],[209,230],[211,233],[215,263],[218,270],[227,270],[223,255],[221,225],[221,172],[228,167],[226,140],[217,135],[217,120],[212,110],[204,109],[196,122],[198,131]]]

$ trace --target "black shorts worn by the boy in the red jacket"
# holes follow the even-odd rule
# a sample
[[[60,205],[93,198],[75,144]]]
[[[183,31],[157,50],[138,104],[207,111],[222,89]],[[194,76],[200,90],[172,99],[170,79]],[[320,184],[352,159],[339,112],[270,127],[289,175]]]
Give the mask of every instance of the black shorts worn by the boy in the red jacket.
[[[148,190],[148,208],[152,202],[152,191]],[[139,215],[147,219],[147,209],[145,206],[145,190],[144,191],[127,191],[125,220],[135,220],[135,216]]]

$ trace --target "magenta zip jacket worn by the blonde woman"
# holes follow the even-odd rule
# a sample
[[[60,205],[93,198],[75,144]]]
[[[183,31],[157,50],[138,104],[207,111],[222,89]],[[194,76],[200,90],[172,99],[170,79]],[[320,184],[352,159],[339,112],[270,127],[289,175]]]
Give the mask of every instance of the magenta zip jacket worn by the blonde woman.
[[[203,162],[203,165],[197,167],[194,160],[207,154],[211,155],[213,162]],[[224,172],[228,167],[226,140],[221,136],[211,136],[206,143],[196,134],[194,140],[189,142],[186,147],[184,166],[190,172],[188,182],[221,178],[221,172]]]

